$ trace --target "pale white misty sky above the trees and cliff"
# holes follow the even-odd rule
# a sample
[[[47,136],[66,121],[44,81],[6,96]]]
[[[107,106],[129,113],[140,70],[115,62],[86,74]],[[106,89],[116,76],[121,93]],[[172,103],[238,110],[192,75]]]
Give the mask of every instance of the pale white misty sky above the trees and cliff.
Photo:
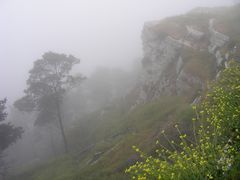
[[[145,21],[231,0],[0,0],[0,98],[22,95],[33,61],[46,51],[96,66],[127,68],[141,57]]]

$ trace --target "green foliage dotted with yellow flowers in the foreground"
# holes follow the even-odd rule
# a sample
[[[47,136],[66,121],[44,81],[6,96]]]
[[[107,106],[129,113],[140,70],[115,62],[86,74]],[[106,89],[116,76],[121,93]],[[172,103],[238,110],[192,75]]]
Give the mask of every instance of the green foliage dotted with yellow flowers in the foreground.
[[[194,141],[180,132],[180,142],[170,147],[156,144],[157,156],[140,153],[142,161],[126,172],[132,179],[230,179],[239,178],[240,65],[231,63],[211,85],[193,118]],[[196,125],[198,124],[198,126]]]

